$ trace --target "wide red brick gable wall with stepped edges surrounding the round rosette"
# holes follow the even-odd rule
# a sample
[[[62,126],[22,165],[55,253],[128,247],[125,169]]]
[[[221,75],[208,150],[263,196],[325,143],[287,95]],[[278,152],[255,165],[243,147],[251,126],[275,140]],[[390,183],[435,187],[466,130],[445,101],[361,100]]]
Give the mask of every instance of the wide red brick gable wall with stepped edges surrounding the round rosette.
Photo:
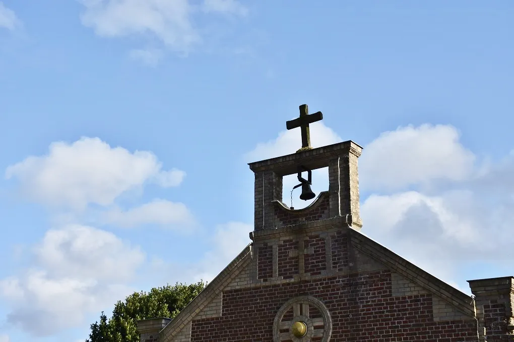
[[[311,295],[331,312],[331,341],[476,341],[475,320],[434,322],[431,295],[393,297],[391,273],[375,271],[298,283],[229,290],[222,317],[192,322],[191,341],[272,341],[275,314],[290,298]]]

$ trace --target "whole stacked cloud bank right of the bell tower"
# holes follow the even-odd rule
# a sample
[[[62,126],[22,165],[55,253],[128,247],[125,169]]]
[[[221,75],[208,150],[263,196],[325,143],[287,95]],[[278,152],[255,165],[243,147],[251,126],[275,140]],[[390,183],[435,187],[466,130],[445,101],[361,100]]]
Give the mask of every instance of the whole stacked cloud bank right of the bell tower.
[[[451,126],[400,127],[364,148],[360,186],[383,190],[361,206],[363,232],[452,286],[476,258],[508,260],[514,224],[514,158],[479,169]],[[445,180],[423,191],[394,192]],[[496,190],[495,190],[496,189]],[[500,190],[501,189],[501,190]],[[389,192],[389,194],[388,194]]]

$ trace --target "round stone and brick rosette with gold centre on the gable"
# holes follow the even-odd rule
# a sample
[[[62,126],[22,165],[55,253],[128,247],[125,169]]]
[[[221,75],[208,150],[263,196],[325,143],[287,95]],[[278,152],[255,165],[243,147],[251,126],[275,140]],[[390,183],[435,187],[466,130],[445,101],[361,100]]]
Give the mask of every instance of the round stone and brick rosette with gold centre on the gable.
[[[306,327],[306,331],[302,327]],[[319,299],[312,296],[288,300],[273,321],[274,342],[328,342],[331,335],[330,313]]]

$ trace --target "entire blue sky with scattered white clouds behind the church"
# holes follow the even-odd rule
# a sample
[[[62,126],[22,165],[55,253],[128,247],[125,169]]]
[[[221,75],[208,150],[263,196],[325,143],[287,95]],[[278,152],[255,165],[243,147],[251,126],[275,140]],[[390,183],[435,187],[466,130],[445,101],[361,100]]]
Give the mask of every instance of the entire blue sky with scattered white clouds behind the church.
[[[0,2],[0,342],[212,279],[304,103],[313,146],[364,147],[363,233],[464,292],[514,275],[514,4],[294,4]]]

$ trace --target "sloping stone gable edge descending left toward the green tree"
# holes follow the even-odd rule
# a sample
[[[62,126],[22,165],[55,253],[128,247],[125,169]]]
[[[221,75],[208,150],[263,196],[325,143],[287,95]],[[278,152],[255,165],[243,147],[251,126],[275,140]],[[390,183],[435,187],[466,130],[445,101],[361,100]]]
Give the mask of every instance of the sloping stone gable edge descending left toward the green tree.
[[[160,338],[169,339],[185,327],[198,312],[203,310],[216,295],[223,291],[230,281],[248,264],[245,261],[250,261],[252,257],[253,250],[250,243],[159,332]]]

